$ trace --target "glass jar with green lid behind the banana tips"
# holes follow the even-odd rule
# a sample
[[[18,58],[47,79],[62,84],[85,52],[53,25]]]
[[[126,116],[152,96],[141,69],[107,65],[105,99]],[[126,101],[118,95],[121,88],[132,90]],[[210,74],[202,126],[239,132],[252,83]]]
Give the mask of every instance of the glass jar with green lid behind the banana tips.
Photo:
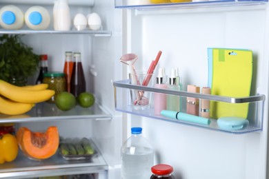
[[[48,100],[50,103],[54,103],[57,94],[60,92],[66,92],[66,78],[63,72],[47,72],[44,74],[43,83],[48,84],[48,89],[55,91],[54,96]]]

